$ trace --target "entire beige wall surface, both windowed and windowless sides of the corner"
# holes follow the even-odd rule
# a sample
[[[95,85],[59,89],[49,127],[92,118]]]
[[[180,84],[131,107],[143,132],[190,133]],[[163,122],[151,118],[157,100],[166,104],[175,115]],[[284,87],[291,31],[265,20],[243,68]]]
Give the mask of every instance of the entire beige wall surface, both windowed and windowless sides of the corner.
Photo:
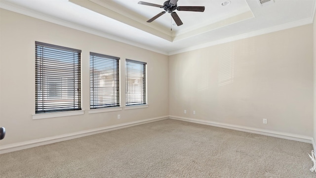
[[[7,130],[1,146],[165,115],[306,136],[314,129],[316,137],[313,25],[172,55],[168,62],[166,55],[4,9],[0,16],[0,126]],[[84,115],[32,119],[35,41],[82,50]],[[88,114],[90,51],[120,57],[121,103],[124,59],[147,62],[149,108]]]

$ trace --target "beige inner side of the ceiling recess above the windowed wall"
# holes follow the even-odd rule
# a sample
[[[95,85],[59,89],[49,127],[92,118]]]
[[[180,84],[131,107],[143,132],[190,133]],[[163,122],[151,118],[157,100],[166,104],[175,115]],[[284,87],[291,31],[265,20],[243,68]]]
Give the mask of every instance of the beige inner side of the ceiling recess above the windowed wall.
[[[161,31],[158,31],[154,28],[151,28],[147,25],[144,25],[138,21],[135,21],[129,17],[126,17],[122,14],[119,14],[118,12],[115,12],[109,8],[106,8],[100,4],[97,4],[95,3],[94,1],[92,0],[69,0],[70,2],[72,3],[75,3],[77,5],[80,5],[84,8],[87,8],[87,9],[90,9],[92,11],[95,11],[99,14],[102,14],[102,15],[105,15],[107,17],[110,17],[112,19],[115,19],[115,20],[118,20],[119,22],[122,22],[122,23],[125,23],[129,26],[132,26],[132,27],[135,27],[135,28],[138,28],[138,29],[141,29],[145,32],[148,32],[148,33],[151,33],[157,37],[160,37],[164,40],[167,40],[169,42],[172,42],[172,37],[171,37],[171,33],[170,35],[167,35]]]

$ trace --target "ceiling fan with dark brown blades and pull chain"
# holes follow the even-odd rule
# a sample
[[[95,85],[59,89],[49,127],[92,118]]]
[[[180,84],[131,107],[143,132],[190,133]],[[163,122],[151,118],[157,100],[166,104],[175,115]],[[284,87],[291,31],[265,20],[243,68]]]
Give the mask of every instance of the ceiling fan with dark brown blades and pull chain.
[[[155,15],[153,18],[147,20],[147,22],[152,22],[164,13],[168,12],[171,13],[171,16],[173,20],[176,22],[177,26],[182,25],[182,21],[178,14],[174,12],[174,10],[179,10],[179,11],[195,11],[195,12],[204,12],[205,7],[204,6],[178,6],[177,5],[178,0],[167,0],[163,3],[163,5],[159,4],[154,4],[154,3],[149,3],[149,2],[143,2],[139,1],[139,4],[142,5],[149,5],[149,6],[154,6],[154,7],[160,7],[163,8],[165,11],[162,11]]]

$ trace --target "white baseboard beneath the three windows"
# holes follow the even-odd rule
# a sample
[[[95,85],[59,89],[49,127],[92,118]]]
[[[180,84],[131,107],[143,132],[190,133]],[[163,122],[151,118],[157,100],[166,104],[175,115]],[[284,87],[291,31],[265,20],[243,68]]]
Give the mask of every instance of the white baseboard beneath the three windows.
[[[150,119],[144,119],[144,120],[140,120],[140,121],[118,124],[118,125],[114,125],[114,126],[108,126],[108,127],[103,127],[103,128],[80,131],[80,132],[71,133],[71,134],[62,134],[62,135],[56,135],[56,136],[51,136],[51,137],[46,137],[46,138],[30,140],[30,141],[23,141],[23,142],[19,142],[19,143],[3,145],[3,146],[0,146],[0,154],[12,152],[12,151],[18,151],[18,150],[27,149],[27,148],[32,148],[32,147],[41,146],[41,145],[46,145],[46,144],[55,143],[55,142],[59,142],[59,141],[70,140],[70,139],[79,138],[82,136],[88,136],[88,135],[92,135],[92,134],[100,134],[100,133],[104,133],[104,132],[114,131],[114,130],[132,127],[132,126],[137,126],[137,125],[141,125],[141,124],[146,124],[146,123],[150,123],[150,122],[160,121],[160,120],[164,120],[164,119],[168,119],[168,118],[169,118],[168,116],[161,116],[161,117],[155,117],[155,118],[150,118]]]

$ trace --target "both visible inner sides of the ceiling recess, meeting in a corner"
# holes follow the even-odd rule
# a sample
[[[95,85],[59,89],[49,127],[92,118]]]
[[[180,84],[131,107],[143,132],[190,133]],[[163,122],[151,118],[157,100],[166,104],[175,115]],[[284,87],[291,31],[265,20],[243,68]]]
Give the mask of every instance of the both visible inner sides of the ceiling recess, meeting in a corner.
[[[241,11],[237,14],[232,14],[228,16],[226,19],[208,24],[203,26],[194,26],[191,29],[179,31],[179,32],[172,32],[170,29],[162,29],[161,26],[155,25],[155,23],[146,23],[143,17],[137,16],[136,13],[127,12],[121,10],[119,8],[115,8],[111,5],[112,1],[102,1],[102,0],[69,0],[70,2],[77,4],[81,7],[90,9],[94,12],[99,14],[105,15],[112,19],[115,19],[119,22],[127,24],[129,26],[138,28],[142,31],[148,32],[153,34],[159,38],[167,40],[169,42],[175,42],[178,40],[190,38],[196,35],[200,35],[214,29],[218,29],[224,26],[228,26],[242,20],[247,20],[250,18],[254,18],[252,11],[250,10],[249,6],[247,5],[247,11]],[[109,3],[109,4],[108,4]]]

